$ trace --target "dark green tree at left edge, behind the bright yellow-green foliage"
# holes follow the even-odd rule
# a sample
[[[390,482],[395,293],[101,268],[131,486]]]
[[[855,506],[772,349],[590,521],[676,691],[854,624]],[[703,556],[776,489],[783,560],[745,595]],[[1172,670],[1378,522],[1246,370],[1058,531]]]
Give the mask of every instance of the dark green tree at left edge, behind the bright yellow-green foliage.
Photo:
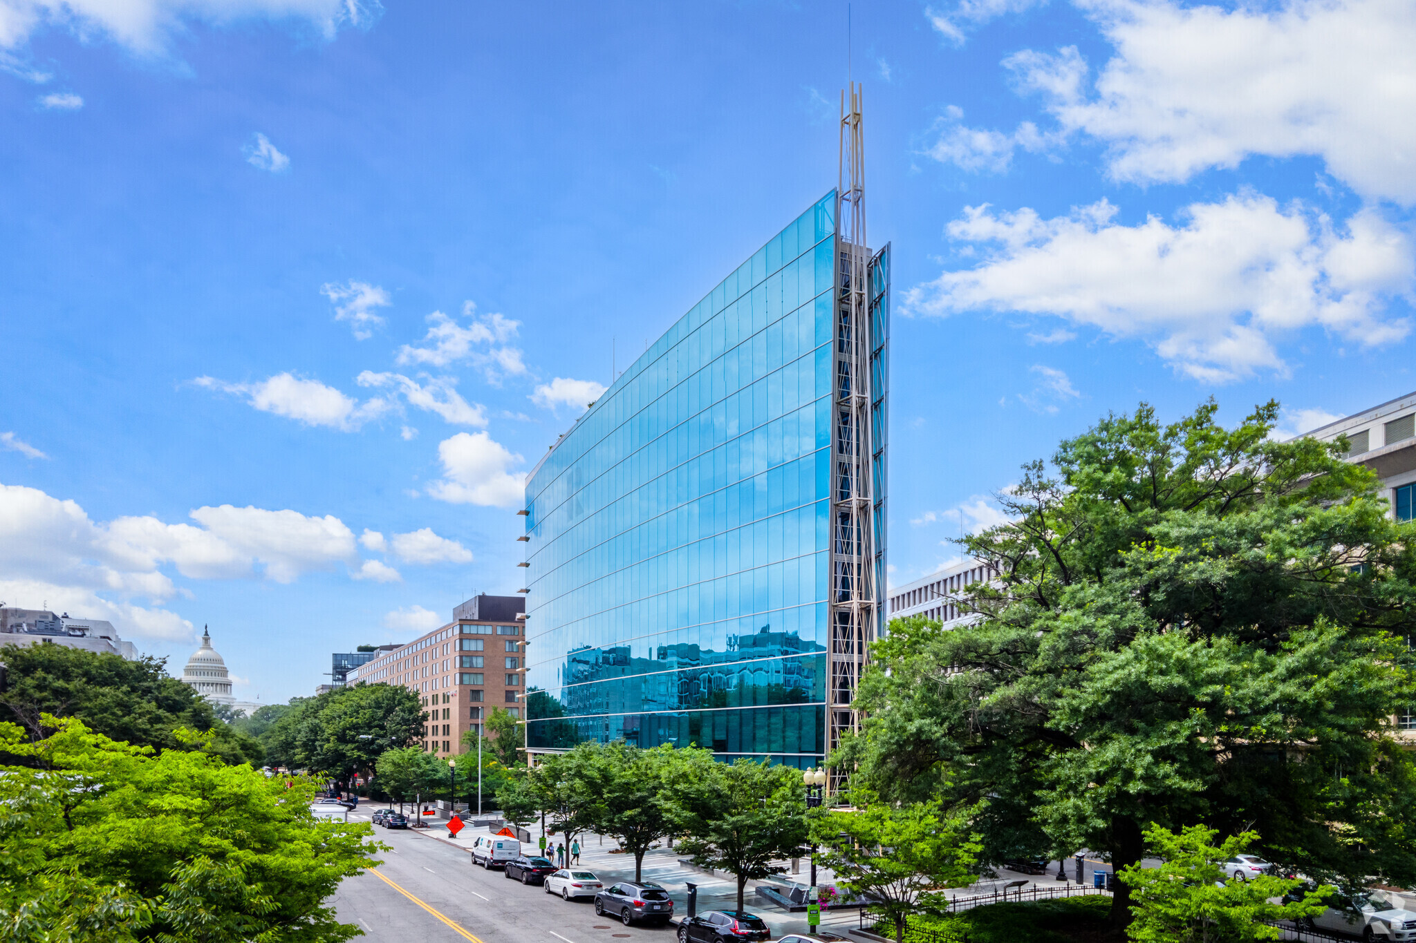
[[[0,649],[6,689],[0,718],[31,739],[52,732],[44,715],[76,717],[110,739],[156,749],[190,749],[177,731],[210,732],[205,749],[229,763],[261,765],[261,745],[217,718],[211,701],[167,674],[167,660],[98,655],[51,642]]]

